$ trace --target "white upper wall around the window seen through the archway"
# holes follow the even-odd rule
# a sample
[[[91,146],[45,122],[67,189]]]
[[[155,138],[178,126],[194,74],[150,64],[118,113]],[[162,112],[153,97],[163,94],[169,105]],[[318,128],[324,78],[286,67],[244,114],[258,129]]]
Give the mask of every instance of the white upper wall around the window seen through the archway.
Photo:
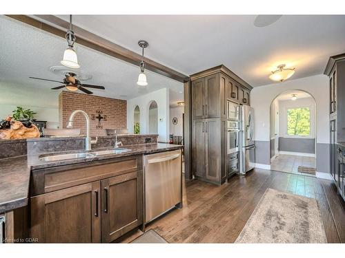
[[[311,114],[311,136],[315,138],[315,101],[313,98],[297,98],[297,100],[279,100],[279,137],[300,138],[301,136],[288,136],[288,109],[309,107]],[[308,136],[302,136],[306,138]]]

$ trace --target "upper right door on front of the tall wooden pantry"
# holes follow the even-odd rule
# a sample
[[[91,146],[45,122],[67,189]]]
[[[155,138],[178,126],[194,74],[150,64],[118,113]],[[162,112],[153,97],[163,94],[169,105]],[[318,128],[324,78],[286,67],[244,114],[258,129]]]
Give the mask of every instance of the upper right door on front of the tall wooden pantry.
[[[220,116],[220,96],[219,96],[219,74],[205,77],[205,117],[219,118]]]

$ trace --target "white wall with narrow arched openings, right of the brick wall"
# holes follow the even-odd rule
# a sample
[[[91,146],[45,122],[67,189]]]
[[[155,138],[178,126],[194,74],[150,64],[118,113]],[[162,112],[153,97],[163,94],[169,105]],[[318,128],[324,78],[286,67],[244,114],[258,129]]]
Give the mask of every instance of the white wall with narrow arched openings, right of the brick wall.
[[[138,105],[140,109],[140,133],[146,134],[149,131],[148,110],[150,103],[155,100],[158,107],[158,140],[169,141],[169,89],[163,88],[155,92],[150,92],[143,96],[127,100],[127,128],[133,133],[134,109]]]

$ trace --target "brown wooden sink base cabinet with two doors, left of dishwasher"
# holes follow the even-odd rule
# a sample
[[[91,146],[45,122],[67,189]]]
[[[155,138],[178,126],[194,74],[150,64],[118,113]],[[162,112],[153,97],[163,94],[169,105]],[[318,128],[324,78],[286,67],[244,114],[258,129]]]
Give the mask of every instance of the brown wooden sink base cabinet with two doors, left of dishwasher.
[[[30,188],[39,242],[110,242],[143,224],[141,155],[32,171]]]

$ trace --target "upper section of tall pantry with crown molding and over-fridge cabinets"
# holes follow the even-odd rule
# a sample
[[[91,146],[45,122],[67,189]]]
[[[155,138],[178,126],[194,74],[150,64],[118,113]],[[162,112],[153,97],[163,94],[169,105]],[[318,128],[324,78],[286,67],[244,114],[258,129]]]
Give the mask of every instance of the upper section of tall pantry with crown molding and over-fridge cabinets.
[[[190,78],[193,119],[226,118],[226,100],[250,105],[252,87],[224,65],[193,74]]]

